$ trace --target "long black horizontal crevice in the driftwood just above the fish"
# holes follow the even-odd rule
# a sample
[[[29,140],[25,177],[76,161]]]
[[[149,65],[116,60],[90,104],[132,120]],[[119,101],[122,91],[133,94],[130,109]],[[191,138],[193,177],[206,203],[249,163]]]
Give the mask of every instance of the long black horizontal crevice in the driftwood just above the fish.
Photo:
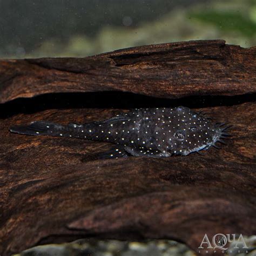
[[[20,98],[0,104],[0,118],[11,117],[18,113],[36,113],[50,109],[133,109],[138,107],[175,107],[206,108],[232,106],[256,99],[256,93],[237,96],[192,96],[180,99],[166,99],[129,92],[86,92],[86,93],[49,93],[33,98]]]

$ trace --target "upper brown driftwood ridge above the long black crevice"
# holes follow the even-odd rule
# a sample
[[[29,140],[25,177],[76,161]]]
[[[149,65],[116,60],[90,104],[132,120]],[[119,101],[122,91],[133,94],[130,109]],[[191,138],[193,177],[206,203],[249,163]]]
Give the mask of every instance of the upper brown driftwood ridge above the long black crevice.
[[[86,58],[0,61],[0,103],[52,92],[125,91],[153,97],[255,92],[256,48],[223,40],[140,46]]]

